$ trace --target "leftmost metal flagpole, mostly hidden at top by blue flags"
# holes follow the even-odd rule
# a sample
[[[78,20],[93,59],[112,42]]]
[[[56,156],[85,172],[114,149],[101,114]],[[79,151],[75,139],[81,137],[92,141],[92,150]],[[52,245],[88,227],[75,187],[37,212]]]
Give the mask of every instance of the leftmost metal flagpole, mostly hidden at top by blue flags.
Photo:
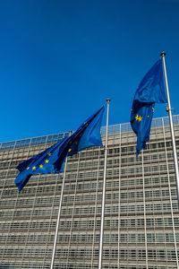
[[[69,136],[71,135],[71,131],[69,131]],[[62,209],[62,200],[63,200],[63,195],[64,195],[64,180],[65,180],[65,175],[66,175],[66,165],[67,165],[67,159],[64,163],[64,178],[62,182],[62,190],[61,190],[61,195],[60,195],[60,203],[58,207],[58,216],[57,216],[57,222],[56,222],[56,229],[55,229],[55,239],[54,239],[54,247],[53,247],[53,252],[52,252],[52,260],[51,260],[51,265],[50,269],[53,269],[54,267],[54,262],[55,262],[55,248],[56,248],[56,242],[57,242],[57,236],[58,236],[58,228],[59,228],[59,223],[60,223],[60,215],[61,215],[61,209]]]

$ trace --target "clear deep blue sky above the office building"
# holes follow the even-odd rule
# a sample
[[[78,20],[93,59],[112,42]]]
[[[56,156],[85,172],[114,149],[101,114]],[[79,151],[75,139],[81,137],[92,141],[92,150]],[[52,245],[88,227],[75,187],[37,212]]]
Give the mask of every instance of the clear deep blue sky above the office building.
[[[0,142],[75,130],[107,98],[109,124],[129,122],[163,50],[179,114],[178,13],[177,0],[1,1]]]

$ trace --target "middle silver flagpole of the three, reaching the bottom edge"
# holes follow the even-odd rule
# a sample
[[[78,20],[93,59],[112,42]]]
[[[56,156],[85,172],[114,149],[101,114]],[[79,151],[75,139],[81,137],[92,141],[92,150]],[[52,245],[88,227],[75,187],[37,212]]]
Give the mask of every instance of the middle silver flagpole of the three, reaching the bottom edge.
[[[100,223],[100,238],[98,246],[98,269],[102,269],[103,260],[103,237],[104,237],[104,219],[105,219],[105,196],[106,196],[106,175],[107,175],[107,134],[108,134],[108,117],[109,117],[109,102],[107,99],[107,126],[106,126],[106,143],[105,143],[105,164],[104,164],[104,178],[103,178],[103,194],[101,204],[101,223]]]

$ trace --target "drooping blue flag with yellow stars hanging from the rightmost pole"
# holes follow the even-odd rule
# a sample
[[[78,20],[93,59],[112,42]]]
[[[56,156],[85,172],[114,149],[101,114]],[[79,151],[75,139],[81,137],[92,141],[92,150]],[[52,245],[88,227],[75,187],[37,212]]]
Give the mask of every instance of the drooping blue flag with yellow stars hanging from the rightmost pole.
[[[137,135],[137,156],[149,141],[155,103],[166,103],[162,59],[159,59],[141,80],[133,99],[131,126]]]

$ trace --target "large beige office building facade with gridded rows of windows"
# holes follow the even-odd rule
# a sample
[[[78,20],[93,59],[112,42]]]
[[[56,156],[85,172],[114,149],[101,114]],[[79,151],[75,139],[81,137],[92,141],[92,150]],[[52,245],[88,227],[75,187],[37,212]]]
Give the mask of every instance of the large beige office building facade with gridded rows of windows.
[[[174,117],[179,154],[179,116]],[[101,129],[105,140],[105,127]],[[167,117],[152,122],[139,157],[129,124],[109,126],[103,268],[177,269],[179,212]],[[50,268],[64,174],[34,175],[18,193],[21,161],[68,133],[0,144],[0,268]],[[104,148],[67,159],[55,269],[98,268]]]

